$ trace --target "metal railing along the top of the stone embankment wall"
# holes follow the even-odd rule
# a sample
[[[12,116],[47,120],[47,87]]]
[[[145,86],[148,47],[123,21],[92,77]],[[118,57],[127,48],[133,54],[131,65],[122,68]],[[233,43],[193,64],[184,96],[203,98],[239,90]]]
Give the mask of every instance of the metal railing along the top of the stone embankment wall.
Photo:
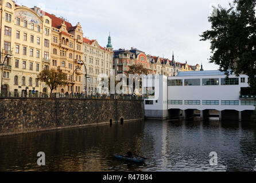
[[[141,96],[117,95],[117,94],[89,94],[84,93],[42,93],[42,92],[2,92],[0,98],[69,98],[69,99],[92,99],[92,100],[143,100]]]

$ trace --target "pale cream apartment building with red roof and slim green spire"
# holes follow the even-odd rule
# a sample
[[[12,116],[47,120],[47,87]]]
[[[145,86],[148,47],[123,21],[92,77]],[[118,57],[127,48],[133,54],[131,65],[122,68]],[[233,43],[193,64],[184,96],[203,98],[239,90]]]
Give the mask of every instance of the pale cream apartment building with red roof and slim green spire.
[[[95,39],[83,39],[84,63],[87,68],[87,94],[98,92],[97,81],[99,74],[107,74],[110,76],[110,69],[113,68],[113,48],[111,45],[111,37],[108,37],[108,44],[102,47]],[[84,66],[82,66],[84,68]],[[83,91],[86,91],[86,71],[83,69]]]

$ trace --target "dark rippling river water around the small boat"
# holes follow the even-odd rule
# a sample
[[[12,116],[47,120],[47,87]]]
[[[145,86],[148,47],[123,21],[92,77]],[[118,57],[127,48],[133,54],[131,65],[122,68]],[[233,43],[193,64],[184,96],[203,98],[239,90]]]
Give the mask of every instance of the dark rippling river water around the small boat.
[[[127,150],[145,164],[119,161]],[[45,166],[37,153],[45,153]],[[210,153],[218,162],[210,165]],[[216,159],[215,159],[216,160]],[[256,171],[256,125],[157,121],[0,137],[0,171]]]

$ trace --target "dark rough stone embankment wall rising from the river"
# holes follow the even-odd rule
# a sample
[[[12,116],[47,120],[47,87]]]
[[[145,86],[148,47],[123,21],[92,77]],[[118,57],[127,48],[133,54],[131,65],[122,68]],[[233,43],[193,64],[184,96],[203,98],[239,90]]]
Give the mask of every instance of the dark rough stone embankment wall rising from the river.
[[[141,100],[1,98],[0,136],[144,119]]]

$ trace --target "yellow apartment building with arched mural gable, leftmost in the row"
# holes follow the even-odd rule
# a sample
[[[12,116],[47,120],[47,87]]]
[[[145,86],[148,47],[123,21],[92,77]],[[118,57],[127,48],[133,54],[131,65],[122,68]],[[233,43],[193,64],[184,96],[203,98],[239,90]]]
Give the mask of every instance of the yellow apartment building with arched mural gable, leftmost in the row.
[[[0,12],[2,92],[42,92],[36,78],[49,67],[51,18],[11,0],[0,1]]]

